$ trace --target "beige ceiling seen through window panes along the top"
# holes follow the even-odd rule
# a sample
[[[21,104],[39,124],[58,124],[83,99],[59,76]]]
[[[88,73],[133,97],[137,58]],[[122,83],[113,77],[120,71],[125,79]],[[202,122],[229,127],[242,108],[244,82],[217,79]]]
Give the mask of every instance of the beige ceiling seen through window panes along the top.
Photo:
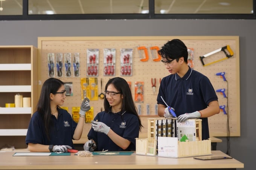
[[[22,0],[4,0],[2,8],[0,15],[22,15]],[[148,0],[29,0],[29,14],[140,14],[148,8]],[[155,0],[156,14],[252,14],[252,9],[253,0]]]

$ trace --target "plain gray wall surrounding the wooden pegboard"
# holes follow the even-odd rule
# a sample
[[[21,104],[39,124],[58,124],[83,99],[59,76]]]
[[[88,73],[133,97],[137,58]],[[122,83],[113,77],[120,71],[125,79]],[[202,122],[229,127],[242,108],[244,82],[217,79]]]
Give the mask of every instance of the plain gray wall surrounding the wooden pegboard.
[[[0,21],[0,45],[34,45],[39,36],[239,36],[241,137],[231,137],[230,156],[254,167],[256,20],[57,20]],[[235,92],[232,92],[235,93]],[[230,113],[232,114],[232,113]],[[221,138],[217,150],[226,153]]]

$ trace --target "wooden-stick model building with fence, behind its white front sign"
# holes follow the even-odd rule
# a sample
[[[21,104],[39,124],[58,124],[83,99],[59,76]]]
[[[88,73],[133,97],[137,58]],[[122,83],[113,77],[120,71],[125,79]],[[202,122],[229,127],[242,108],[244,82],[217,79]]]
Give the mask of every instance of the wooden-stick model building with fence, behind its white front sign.
[[[178,144],[174,157],[201,156],[211,154],[211,140],[201,140],[201,119],[188,119],[177,123],[175,118],[148,119],[148,138],[136,138],[136,154],[157,155],[158,137],[174,138]],[[186,135],[188,140],[180,139]],[[176,142],[176,143],[177,143]],[[160,146],[161,149],[164,146]]]

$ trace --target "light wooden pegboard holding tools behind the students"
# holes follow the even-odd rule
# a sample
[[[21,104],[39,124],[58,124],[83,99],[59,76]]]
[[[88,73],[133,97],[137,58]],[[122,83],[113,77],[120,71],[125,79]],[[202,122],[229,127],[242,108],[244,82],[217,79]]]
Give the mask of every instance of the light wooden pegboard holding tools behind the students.
[[[38,37],[39,60],[38,64],[38,80],[39,89],[43,82],[49,78],[48,75],[48,53],[80,53],[80,76],[79,77],[57,77],[63,82],[73,83],[73,96],[67,96],[64,106],[69,108],[69,113],[72,113],[72,107],[80,107],[81,104],[81,85],[80,79],[86,78],[87,68],[87,49],[99,49],[99,71],[98,71],[98,94],[104,92],[104,87],[107,81],[113,77],[122,77],[126,81],[131,81],[131,92],[133,98],[135,95],[135,82],[143,81],[143,102],[136,102],[137,108],[141,107],[141,118],[144,128],[141,134],[147,133],[147,119],[150,117],[157,117],[155,112],[155,105],[157,103],[157,93],[160,86],[160,79],[169,75],[163,63],[153,61],[150,47],[157,46],[161,48],[167,41],[171,39],[181,39],[188,48],[193,48],[194,52],[194,66],[193,69],[206,75],[214,89],[226,89],[227,98],[224,98],[221,93],[216,92],[219,98],[219,105],[226,105],[229,107],[229,126],[230,136],[240,136],[240,87],[239,87],[239,37],[238,36],[131,36],[131,37]],[[208,66],[203,66],[200,61],[200,56],[215,51],[229,45],[234,55],[229,59],[213,63]],[[145,46],[148,51],[149,59],[142,62],[139,57],[137,47]],[[104,49],[116,49],[116,67],[114,76],[104,75]],[[120,71],[120,50],[122,48],[133,49],[132,59],[132,76],[122,76]],[[143,52],[140,50],[140,52]],[[157,57],[156,51],[152,51],[154,57]],[[144,54],[141,54],[145,57]],[[220,51],[204,58],[205,63],[223,59],[226,55]],[[225,77],[228,81],[223,81],[221,76],[215,75],[217,72],[225,72]],[[153,94],[151,78],[156,80],[156,93]],[[102,89],[101,89],[102,79]],[[228,93],[227,93],[228,92]],[[40,94],[40,91],[38,92]],[[103,99],[98,98],[96,101],[90,102],[94,107],[94,116],[103,110]],[[149,105],[149,113],[147,114],[146,107]],[[211,136],[226,136],[227,135],[227,114],[220,112],[217,115],[209,117],[209,127]],[[90,123],[86,123],[82,137],[87,136]],[[144,136],[143,135],[143,136]]]

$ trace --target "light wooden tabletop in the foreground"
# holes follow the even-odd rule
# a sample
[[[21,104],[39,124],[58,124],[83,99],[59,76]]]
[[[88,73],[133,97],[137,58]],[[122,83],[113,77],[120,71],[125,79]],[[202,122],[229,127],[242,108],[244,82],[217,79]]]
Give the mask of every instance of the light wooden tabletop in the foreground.
[[[21,150],[23,151],[23,150]],[[187,158],[164,158],[143,155],[94,155],[79,157],[70,156],[12,156],[16,150],[0,152],[0,169],[214,169],[214,168],[243,168],[244,164],[236,159],[221,159],[202,161]],[[25,151],[23,151],[25,152]],[[212,156],[227,156],[216,150]]]

